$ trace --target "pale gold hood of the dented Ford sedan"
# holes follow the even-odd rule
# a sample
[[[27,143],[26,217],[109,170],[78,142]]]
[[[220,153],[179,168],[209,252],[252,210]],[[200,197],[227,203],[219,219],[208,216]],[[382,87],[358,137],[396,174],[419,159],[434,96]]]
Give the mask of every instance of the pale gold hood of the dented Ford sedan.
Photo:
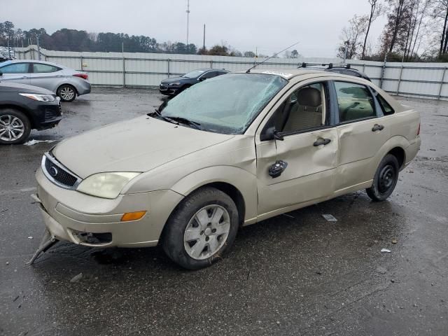
[[[66,139],[52,154],[85,179],[100,172],[148,172],[232,137],[143,116]]]

